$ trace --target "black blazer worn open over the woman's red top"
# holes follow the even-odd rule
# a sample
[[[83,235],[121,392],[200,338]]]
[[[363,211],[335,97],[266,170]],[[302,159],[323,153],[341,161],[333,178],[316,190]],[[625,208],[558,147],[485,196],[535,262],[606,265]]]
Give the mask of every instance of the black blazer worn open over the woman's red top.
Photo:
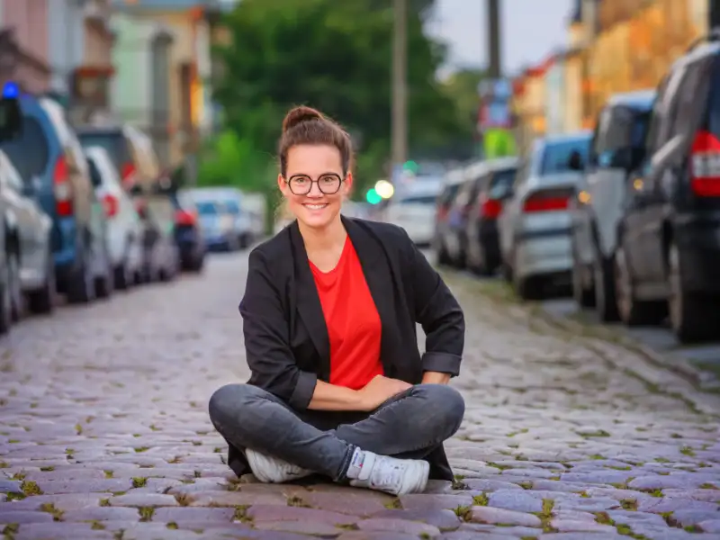
[[[417,384],[423,372],[456,376],[464,348],[460,305],[404,229],[343,217],[383,325],[384,373]],[[257,385],[306,410],[318,379],[329,381],[330,347],[320,297],[297,221],[252,250],[240,302],[247,364]],[[427,335],[420,356],[416,322]],[[247,472],[230,446],[228,464]],[[442,446],[428,456],[431,478],[453,480]]]

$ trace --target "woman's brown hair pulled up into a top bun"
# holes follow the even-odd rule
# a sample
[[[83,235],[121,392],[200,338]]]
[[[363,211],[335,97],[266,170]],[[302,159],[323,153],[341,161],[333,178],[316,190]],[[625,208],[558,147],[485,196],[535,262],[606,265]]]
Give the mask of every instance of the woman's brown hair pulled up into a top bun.
[[[301,105],[288,111],[283,121],[283,135],[278,145],[280,174],[287,173],[287,152],[300,144],[328,145],[338,148],[347,174],[352,165],[353,145],[350,136],[336,121],[332,121],[321,112]]]

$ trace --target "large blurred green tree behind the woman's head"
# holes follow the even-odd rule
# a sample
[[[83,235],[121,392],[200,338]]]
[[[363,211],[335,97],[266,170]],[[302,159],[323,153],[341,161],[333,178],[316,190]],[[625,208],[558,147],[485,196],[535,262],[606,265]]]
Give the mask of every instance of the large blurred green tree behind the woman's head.
[[[431,6],[411,0],[408,21],[410,148],[420,151],[464,131],[435,76],[444,48],[423,33]],[[244,0],[225,24],[231,45],[217,51],[225,76],[215,98],[229,130],[251,140],[257,153],[273,155],[284,112],[309,104],[362,140],[359,184],[383,174],[391,132],[390,2]]]

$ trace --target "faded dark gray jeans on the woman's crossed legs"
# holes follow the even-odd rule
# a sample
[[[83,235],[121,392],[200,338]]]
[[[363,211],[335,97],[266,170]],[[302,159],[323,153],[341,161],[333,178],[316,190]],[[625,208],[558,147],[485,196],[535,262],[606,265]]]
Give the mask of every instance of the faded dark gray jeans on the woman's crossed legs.
[[[372,413],[293,410],[270,392],[228,384],[210,400],[210,419],[238,449],[252,448],[340,482],[356,447],[422,459],[463,421],[463,396],[442,384],[419,384]]]

